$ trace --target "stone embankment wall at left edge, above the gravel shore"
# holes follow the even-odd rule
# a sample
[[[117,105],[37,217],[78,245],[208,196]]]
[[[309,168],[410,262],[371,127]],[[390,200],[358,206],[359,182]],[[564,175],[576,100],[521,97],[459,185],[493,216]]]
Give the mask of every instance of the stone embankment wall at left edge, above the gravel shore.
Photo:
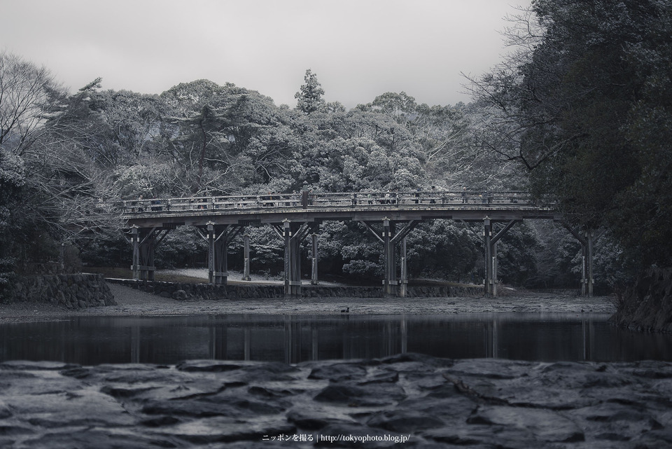
[[[18,277],[6,303],[47,303],[67,309],[116,305],[102,275],[34,275]]]

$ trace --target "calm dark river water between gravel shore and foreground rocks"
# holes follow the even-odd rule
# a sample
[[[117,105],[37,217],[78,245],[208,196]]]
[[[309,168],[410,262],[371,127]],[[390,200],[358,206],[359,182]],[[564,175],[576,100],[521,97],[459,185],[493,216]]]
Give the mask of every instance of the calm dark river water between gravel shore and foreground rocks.
[[[672,336],[607,324],[605,314],[76,317],[0,325],[0,361],[296,363],[420,352],[466,359],[672,361]]]

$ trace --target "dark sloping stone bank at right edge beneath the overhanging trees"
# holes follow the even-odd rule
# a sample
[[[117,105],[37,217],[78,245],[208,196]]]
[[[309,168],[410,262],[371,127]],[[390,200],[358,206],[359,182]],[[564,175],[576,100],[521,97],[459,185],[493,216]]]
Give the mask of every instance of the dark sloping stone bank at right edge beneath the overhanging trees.
[[[672,269],[650,268],[617,296],[617,326],[672,333]]]

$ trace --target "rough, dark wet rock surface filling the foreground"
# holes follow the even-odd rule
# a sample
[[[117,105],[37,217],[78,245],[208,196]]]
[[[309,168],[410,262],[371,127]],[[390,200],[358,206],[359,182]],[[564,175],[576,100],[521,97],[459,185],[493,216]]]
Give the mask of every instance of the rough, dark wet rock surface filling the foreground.
[[[672,364],[0,364],[2,448],[665,448]]]

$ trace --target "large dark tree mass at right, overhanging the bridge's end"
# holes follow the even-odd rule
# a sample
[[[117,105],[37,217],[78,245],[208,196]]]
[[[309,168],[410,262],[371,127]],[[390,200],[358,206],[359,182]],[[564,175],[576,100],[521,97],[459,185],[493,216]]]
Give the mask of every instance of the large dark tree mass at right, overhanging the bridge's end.
[[[672,2],[535,0],[515,25],[517,53],[473,80],[489,146],[575,223],[670,265]]]

